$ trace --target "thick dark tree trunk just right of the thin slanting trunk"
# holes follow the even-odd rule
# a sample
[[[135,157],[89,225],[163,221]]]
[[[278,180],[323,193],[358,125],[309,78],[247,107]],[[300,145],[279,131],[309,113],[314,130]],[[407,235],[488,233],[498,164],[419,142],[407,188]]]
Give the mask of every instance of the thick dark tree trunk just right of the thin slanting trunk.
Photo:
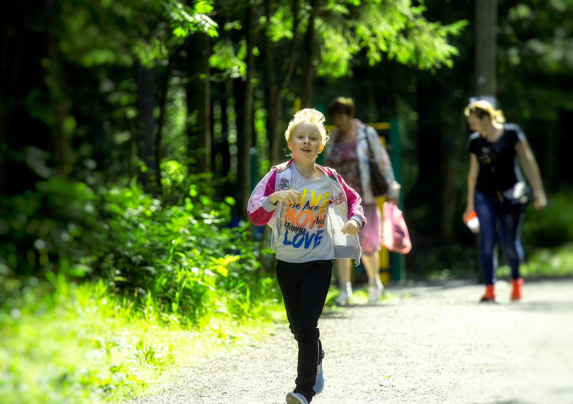
[[[189,144],[187,150],[193,157],[197,155],[197,168],[190,172],[206,173],[211,171],[211,87],[209,54],[209,35],[195,33],[189,50],[189,85],[187,86],[187,110],[191,115],[197,112],[195,126],[187,127]]]

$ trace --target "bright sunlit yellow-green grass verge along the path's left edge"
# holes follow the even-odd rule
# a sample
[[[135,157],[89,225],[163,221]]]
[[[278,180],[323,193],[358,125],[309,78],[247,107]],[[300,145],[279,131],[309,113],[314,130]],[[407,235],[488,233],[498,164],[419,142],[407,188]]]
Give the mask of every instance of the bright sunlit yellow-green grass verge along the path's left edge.
[[[190,328],[113,296],[104,282],[58,285],[50,295],[28,290],[20,307],[0,310],[3,404],[99,403],[152,391],[179,366],[284,321],[274,302],[253,307],[254,318],[221,310]]]

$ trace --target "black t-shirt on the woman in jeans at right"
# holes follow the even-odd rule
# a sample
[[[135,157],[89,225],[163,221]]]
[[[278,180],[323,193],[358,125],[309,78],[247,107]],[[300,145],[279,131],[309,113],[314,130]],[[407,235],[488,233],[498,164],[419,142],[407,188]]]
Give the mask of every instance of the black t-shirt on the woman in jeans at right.
[[[503,129],[504,132],[496,142],[488,142],[477,132],[469,137],[468,149],[477,156],[480,163],[476,184],[480,192],[503,192],[523,180],[515,145],[525,140],[525,134],[517,124],[504,124]]]

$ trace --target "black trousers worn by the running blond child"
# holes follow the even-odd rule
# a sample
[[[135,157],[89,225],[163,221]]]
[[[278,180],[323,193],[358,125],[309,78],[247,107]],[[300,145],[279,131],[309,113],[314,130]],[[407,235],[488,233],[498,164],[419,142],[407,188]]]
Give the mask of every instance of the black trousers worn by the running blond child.
[[[324,357],[318,322],[332,277],[332,260],[304,263],[277,262],[277,282],[285,302],[291,332],[299,343],[295,393],[311,402],[316,368]]]

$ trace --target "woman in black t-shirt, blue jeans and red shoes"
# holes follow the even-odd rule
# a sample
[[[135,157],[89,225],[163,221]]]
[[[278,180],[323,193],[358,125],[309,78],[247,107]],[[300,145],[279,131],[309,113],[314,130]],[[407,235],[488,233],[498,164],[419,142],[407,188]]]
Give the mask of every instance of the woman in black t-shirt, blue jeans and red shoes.
[[[465,116],[475,132],[469,138],[468,204],[463,219],[465,221],[469,213],[475,211],[480,222],[480,266],[486,285],[481,300],[495,298],[496,223],[499,223],[501,248],[511,267],[511,299],[517,300],[521,298],[523,283],[519,275],[519,264],[524,259],[521,223],[528,201],[527,193],[520,191],[525,184],[517,159],[533,188],[536,209],[547,205],[539,167],[519,125],[504,124],[501,111],[494,110],[489,102],[473,102],[466,107]]]

